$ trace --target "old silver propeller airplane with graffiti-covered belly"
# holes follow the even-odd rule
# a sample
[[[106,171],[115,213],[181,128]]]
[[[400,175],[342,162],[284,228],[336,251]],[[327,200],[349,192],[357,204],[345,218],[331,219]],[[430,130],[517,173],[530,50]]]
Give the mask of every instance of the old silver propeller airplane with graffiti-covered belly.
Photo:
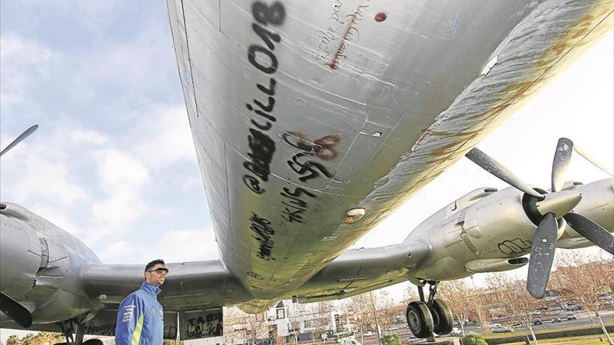
[[[510,178],[515,188],[467,194],[403,243],[346,250],[465,154],[499,167],[474,146],[611,29],[611,2],[167,7],[222,255],[168,265],[177,274],[160,296],[167,339],[219,335],[204,324],[220,323],[225,305],[260,312],[281,298],[346,298],[407,280],[430,285],[428,299],[422,293],[407,309],[412,332],[430,337],[449,327],[449,310],[435,298],[440,280],[543,266],[547,260],[523,255],[536,229],[551,236],[552,217],[573,224],[567,218],[577,214],[614,229],[611,180],[557,182],[541,213],[541,192],[523,206],[523,193],[534,191]],[[502,204],[506,212],[486,210]],[[61,331],[69,344],[112,335],[117,305],[142,267],[100,263],[66,231],[2,205],[0,327]],[[532,221],[535,210],[525,208],[533,206],[546,225]],[[558,246],[601,243],[592,236],[601,228],[581,236],[559,225]],[[547,271],[532,270],[538,296]]]

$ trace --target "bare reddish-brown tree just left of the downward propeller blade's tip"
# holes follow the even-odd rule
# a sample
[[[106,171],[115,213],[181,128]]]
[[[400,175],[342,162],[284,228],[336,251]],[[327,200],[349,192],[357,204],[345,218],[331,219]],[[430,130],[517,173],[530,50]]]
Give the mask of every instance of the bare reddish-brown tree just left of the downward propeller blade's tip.
[[[525,282],[512,280],[505,273],[492,273],[486,278],[488,287],[493,292],[493,302],[498,309],[504,310],[511,319],[524,325],[537,345],[537,337],[533,331],[533,312],[541,302],[533,298],[525,288]]]

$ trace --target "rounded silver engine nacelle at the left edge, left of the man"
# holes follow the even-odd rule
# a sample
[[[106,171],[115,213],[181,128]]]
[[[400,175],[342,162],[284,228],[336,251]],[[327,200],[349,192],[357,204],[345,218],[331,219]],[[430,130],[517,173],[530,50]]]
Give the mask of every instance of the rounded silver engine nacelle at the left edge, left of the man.
[[[3,204],[0,221],[0,291],[29,310],[33,323],[102,307],[78,279],[83,266],[100,263],[87,245],[15,204]]]

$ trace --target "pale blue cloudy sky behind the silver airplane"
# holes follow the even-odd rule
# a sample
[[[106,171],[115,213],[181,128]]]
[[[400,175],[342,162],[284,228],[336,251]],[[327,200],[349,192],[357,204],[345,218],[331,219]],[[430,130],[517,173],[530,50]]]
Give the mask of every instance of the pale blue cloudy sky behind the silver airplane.
[[[610,32],[478,147],[545,189],[559,137],[613,169],[613,41]],[[3,156],[2,201],[105,263],[219,257],[162,1],[0,1],[0,43],[1,147],[40,125]],[[568,176],[608,177],[578,155]],[[461,159],[354,247],[400,243],[483,186],[506,187]]]

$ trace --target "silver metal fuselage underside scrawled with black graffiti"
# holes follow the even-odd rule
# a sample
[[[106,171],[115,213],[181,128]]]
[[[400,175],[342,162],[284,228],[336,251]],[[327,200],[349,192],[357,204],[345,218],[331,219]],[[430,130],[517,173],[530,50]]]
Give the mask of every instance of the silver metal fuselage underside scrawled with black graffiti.
[[[609,1],[168,7],[220,253],[262,300],[255,309],[461,158],[607,30],[612,11]],[[353,208],[366,215],[345,224]]]

